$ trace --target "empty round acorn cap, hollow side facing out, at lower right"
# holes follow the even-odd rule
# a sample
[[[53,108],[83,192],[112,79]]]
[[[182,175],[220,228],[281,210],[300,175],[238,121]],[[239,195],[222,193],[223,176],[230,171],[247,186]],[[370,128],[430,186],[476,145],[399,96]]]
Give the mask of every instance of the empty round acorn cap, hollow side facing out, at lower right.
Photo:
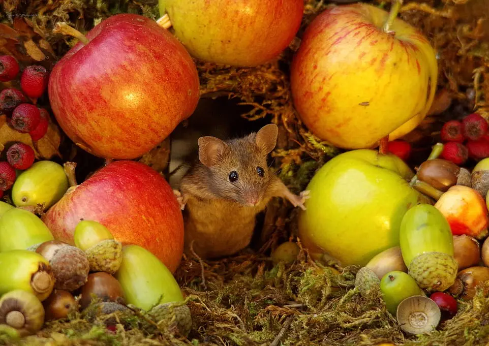
[[[424,334],[438,326],[441,310],[437,303],[428,297],[411,296],[398,305],[396,317],[405,332]]]

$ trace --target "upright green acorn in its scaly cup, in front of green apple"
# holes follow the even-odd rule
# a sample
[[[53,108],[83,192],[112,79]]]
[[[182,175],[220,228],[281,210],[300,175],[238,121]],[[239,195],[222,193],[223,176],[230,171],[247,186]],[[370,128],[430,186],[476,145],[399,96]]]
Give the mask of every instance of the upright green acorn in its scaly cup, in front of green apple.
[[[453,236],[443,214],[430,204],[409,209],[401,221],[400,245],[408,274],[427,291],[445,291],[455,281]]]

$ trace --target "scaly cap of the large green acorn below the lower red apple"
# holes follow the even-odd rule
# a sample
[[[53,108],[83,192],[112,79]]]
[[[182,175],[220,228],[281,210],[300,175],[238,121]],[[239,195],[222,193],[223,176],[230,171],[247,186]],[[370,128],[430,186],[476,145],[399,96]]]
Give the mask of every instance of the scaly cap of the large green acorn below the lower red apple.
[[[159,304],[148,311],[148,316],[158,324],[165,320],[170,330],[177,330],[180,335],[187,337],[192,329],[192,315],[189,307],[181,304],[181,302]]]

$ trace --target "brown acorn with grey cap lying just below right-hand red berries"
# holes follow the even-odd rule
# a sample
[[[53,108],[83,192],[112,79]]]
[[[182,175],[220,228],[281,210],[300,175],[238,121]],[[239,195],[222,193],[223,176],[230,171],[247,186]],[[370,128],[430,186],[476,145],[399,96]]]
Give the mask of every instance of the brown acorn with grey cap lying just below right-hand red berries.
[[[441,192],[446,192],[453,185],[470,186],[470,172],[444,159],[426,160],[419,165],[416,173],[424,181]]]

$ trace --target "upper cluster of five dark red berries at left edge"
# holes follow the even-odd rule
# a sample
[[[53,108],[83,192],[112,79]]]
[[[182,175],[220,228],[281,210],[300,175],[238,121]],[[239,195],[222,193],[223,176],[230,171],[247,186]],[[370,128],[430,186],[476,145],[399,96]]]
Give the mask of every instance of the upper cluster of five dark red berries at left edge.
[[[10,55],[0,56],[0,81],[9,82],[20,72],[17,60]],[[9,124],[20,133],[28,133],[33,141],[46,134],[49,114],[43,108],[36,107],[25,97],[37,99],[47,87],[48,71],[38,65],[27,66],[20,75],[20,88],[6,88],[0,92],[0,113],[9,117]]]

